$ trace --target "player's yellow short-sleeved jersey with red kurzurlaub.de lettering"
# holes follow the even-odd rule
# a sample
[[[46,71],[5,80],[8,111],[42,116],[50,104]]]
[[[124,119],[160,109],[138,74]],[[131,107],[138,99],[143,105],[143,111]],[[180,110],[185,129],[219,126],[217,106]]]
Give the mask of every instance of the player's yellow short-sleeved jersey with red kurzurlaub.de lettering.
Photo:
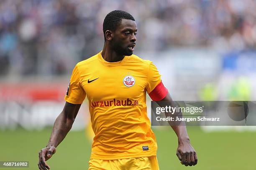
[[[99,52],[77,63],[65,100],[82,104],[88,98],[95,133],[91,159],[156,155],[156,138],[147,117],[146,92],[151,93],[160,83],[156,66],[136,55],[107,62]]]

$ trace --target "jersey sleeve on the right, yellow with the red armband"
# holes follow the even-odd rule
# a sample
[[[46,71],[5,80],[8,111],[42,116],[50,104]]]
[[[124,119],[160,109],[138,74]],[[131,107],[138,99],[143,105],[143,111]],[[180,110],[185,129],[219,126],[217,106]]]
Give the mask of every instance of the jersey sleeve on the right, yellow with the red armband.
[[[148,83],[146,86],[148,95],[154,101],[162,100],[168,93],[166,87],[161,81],[161,75],[157,70],[156,66],[150,62],[148,70]]]

